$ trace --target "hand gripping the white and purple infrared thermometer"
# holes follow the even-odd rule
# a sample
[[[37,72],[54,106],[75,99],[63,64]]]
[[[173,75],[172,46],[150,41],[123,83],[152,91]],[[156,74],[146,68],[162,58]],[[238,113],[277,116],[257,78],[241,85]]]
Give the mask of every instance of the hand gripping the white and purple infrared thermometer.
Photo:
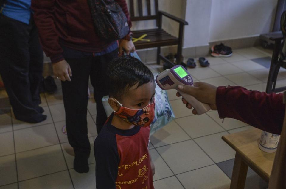
[[[180,91],[188,93],[189,95],[195,97],[198,101],[209,104],[212,110],[217,110],[216,105],[216,93],[217,87],[204,82],[195,82],[193,86],[189,85],[178,85]],[[176,94],[181,96],[179,92]],[[184,104],[189,109],[192,109],[192,105],[189,104],[184,98],[182,98]],[[197,111],[193,109],[193,114],[197,114]]]

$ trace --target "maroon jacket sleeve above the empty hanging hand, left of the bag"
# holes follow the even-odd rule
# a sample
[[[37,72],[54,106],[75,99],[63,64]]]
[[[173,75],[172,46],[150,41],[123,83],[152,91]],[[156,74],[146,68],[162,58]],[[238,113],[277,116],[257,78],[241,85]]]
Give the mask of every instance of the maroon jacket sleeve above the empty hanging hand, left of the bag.
[[[52,63],[64,59],[54,23],[54,6],[55,0],[32,0],[31,2],[41,45],[46,55],[51,58]]]

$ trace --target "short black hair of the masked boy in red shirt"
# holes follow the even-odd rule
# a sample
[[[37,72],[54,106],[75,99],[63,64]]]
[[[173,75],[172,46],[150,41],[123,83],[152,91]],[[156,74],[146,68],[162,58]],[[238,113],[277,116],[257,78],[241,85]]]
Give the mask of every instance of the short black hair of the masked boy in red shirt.
[[[106,82],[108,95],[120,99],[132,86],[154,82],[154,76],[137,58],[125,55],[108,64]]]

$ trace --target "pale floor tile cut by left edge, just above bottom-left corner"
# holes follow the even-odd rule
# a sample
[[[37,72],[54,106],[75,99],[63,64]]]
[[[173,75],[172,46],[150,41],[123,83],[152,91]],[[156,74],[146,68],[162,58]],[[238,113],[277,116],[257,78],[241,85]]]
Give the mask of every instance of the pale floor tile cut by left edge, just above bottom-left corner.
[[[17,182],[15,155],[0,157],[0,186]]]

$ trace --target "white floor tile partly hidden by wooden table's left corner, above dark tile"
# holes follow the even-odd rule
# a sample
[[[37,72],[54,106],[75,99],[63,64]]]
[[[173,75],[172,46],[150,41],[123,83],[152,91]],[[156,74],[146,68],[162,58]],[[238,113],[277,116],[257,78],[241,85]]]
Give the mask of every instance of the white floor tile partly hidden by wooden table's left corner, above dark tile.
[[[223,135],[228,135],[228,133],[225,131],[209,136],[203,136],[194,140],[209,157],[215,161],[215,163],[219,163],[233,159],[235,156],[235,151],[221,139]]]

